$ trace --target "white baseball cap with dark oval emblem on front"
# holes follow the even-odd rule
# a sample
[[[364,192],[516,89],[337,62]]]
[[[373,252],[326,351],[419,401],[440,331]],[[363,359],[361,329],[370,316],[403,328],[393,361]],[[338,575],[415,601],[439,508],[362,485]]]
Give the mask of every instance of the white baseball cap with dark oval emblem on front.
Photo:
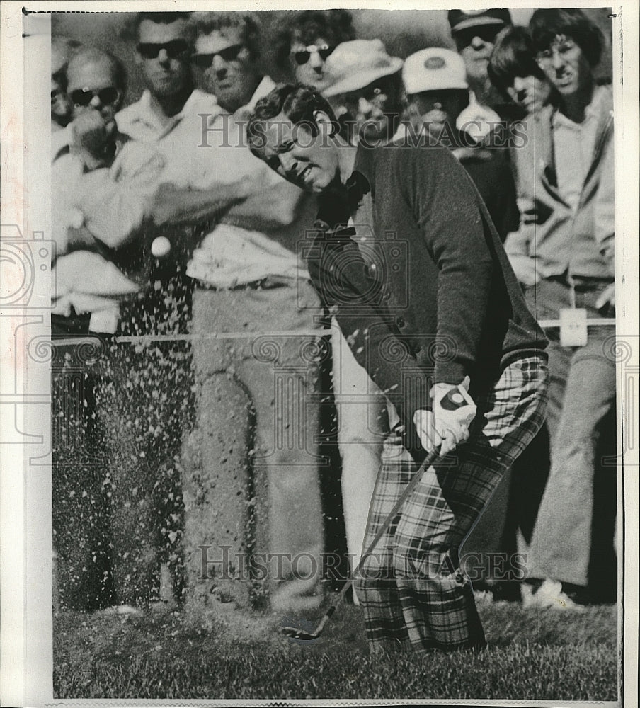
[[[462,57],[442,47],[430,47],[407,57],[402,67],[405,91],[421,93],[441,89],[468,89]]]

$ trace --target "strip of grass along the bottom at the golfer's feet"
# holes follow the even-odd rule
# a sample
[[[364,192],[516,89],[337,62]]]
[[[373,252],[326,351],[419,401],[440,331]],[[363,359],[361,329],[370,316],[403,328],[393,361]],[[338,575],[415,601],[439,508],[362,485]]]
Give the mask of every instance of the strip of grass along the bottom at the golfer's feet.
[[[57,698],[616,700],[616,608],[583,613],[479,603],[481,653],[370,654],[358,607],[322,639],[281,637],[282,617],[65,612],[55,618]]]

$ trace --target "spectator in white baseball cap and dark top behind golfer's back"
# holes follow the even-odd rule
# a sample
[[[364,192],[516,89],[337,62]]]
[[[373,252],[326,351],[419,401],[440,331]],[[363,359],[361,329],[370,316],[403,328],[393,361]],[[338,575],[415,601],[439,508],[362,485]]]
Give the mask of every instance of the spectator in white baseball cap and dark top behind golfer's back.
[[[425,132],[429,144],[448,147],[461,159],[504,241],[519,224],[513,176],[504,150],[480,149],[471,135],[456,127],[469,104],[464,62],[455,52],[431,47],[407,57],[402,79],[413,132]]]

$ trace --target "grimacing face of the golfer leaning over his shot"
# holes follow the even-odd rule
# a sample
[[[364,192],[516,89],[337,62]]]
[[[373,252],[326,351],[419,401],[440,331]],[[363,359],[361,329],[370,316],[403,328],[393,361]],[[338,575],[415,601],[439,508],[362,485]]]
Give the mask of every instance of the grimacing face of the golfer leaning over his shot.
[[[328,139],[325,125],[293,123],[283,114],[264,125],[261,158],[284,177],[307,192],[321,193],[338,173],[338,147]],[[314,135],[316,132],[316,135]]]

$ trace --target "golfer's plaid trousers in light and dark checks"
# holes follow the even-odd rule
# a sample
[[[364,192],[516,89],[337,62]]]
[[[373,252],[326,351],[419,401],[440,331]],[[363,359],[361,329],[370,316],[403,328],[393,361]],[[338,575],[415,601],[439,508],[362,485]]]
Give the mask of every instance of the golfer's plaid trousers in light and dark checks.
[[[511,362],[476,404],[469,440],[425,470],[356,579],[372,650],[452,651],[486,644],[458,549],[504,472],[544,422],[544,355]],[[418,467],[392,430],[384,444],[365,548]]]

